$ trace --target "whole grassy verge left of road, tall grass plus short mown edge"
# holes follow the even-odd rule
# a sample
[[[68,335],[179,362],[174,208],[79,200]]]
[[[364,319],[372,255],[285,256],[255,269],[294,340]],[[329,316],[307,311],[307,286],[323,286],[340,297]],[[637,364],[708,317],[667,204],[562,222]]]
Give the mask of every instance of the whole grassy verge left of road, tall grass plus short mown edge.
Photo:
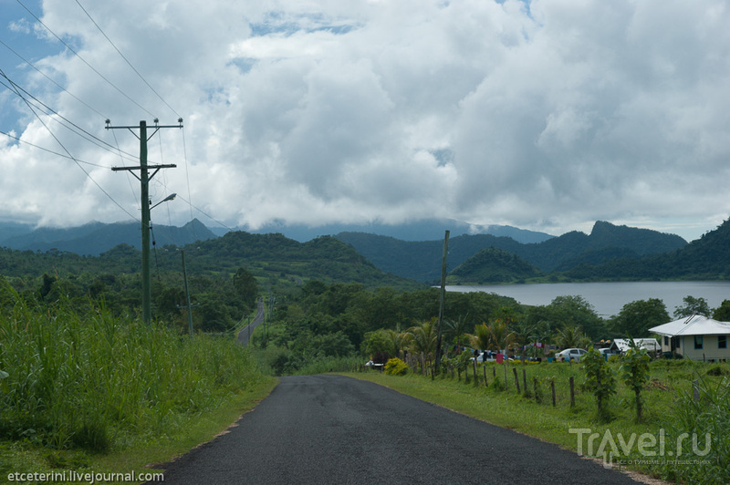
[[[145,467],[212,439],[276,386],[230,338],[2,296],[0,482],[155,471]]]

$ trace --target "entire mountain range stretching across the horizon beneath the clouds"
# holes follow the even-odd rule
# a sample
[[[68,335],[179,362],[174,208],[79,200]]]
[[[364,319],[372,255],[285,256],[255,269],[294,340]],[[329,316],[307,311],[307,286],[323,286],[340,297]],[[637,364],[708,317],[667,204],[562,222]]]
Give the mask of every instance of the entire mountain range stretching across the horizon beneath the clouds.
[[[50,261],[47,257],[59,255],[74,256],[76,259],[68,258],[69,264],[86,262],[89,271],[96,258],[87,256],[95,255],[107,261],[104,263],[107,269],[121,264],[125,272],[133,272],[138,265],[138,256],[134,255],[139,252],[141,242],[137,222],[95,222],[72,229],[38,229],[25,233],[22,229],[5,230],[0,224],[0,247],[7,248],[0,250],[3,260],[0,273],[47,271],[44,269]],[[474,228],[469,226],[469,229]],[[163,249],[158,252],[161,264],[167,257],[177,257],[173,256],[175,247],[184,247],[186,252],[200,251],[200,256],[195,258],[198,263],[191,262],[191,266],[198,265],[201,271],[226,272],[247,262],[260,267],[262,274],[291,274],[297,281],[328,275],[332,281],[362,280],[375,285],[379,279],[381,284],[392,282],[393,277],[437,284],[443,257],[443,226],[438,232],[441,232],[439,236],[429,241],[403,241],[368,232],[339,232],[297,242],[281,233],[235,231],[218,237],[202,222],[193,220],[181,228],[155,226],[152,235],[157,247]],[[520,242],[494,234],[464,233],[451,237],[447,258],[450,284],[730,279],[730,244],[727,243],[730,220],[690,243],[673,234],[601,221],[594,224],[589,234],[568,232],[555,237],[517,231],[515,237],[537,238],[539,242]],[[168,244],[170,247],[166,247]],[[14,249],[22,251],[14,252]],[[359,254],[362,261],[349,252]],[[28,253],[44,255],[46,259],[18,263]],[[303,265],[305,260],[308,263]],[[309,269],[302,273],[304,268]],[[348,280],[353,275],[355,279]]]

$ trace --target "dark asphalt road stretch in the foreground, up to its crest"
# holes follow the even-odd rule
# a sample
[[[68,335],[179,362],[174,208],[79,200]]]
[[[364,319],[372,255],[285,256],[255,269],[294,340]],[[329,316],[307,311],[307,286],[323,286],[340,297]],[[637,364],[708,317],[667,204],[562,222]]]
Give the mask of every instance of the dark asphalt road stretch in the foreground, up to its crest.
[[[634,484],[576,453],[370,382],[283,377],[165,484]]]

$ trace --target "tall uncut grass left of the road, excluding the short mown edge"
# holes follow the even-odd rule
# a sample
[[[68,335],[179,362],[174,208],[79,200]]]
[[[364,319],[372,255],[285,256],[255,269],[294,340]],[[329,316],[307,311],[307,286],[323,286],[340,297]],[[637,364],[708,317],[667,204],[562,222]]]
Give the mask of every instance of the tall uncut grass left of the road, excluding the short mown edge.
[[[0,281],[0,284],[3,282]],[[151,440],[264,379],[233,340],[180,335],[0,288],[0,439],[107,451]]]

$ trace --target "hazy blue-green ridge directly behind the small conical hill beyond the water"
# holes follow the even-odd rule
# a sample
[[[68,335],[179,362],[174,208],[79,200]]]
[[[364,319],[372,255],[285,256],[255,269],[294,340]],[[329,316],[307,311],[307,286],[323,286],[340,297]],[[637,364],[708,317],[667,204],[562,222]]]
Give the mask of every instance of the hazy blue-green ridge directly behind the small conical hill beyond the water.
[[[429,283],[440,277],[443,241],[405,242],[362,232],[341,232],[335,237],[351,244],[385,272]],[[590,234],[568,232],[530,244],[488,234],[461,235],[449,240],[448,267],[451,270],[479,251],[494,247],[516,254],[544,273],[565,272],[579,265],[597,265],[616,258],[638,259],[673,252],[686,244],[677,235],[610,222],[596,222]]]

